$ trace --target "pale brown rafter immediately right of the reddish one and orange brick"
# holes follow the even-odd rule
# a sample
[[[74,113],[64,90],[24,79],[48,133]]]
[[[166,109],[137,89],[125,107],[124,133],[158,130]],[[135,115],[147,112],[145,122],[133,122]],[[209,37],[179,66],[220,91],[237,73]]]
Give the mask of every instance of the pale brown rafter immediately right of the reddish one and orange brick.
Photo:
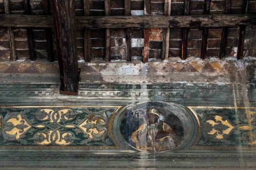
[[[172,1],[165,0],[164,1],[164,15],[170,16],[170,9],[171,9]],[[170,29],[166,28],[163,30],[163,52],[162,52],[162,59],[168,60],[169,56],[169,39],[170,39]]]

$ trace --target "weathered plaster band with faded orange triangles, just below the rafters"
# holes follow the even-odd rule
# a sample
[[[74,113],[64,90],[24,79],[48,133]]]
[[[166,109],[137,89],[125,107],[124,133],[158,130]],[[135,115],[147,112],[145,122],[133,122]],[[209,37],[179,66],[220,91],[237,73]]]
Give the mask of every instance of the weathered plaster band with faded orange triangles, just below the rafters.
[[[141,61],[128,63],[120,62],[90,62],[79,63],[81,68],[81,83],[169,83],[169,82],[209,82],[233,83],[254,80],[255,60],[155,60],[148,63]],[[40,82],[32,75],[41,75],[52,80],[59,73],[58,63],[45,61],[0,62],[0,73],[11,76],[15,81],[16,74],[30,81]],[[245,77],[245,75],[247,76]],[[1,76],[1,77],[2,77]],[[10,77],[9,77],[10,78]],[[8,81],[8,78],[4,78]],[[57,78],[56,82],[59,81]]]

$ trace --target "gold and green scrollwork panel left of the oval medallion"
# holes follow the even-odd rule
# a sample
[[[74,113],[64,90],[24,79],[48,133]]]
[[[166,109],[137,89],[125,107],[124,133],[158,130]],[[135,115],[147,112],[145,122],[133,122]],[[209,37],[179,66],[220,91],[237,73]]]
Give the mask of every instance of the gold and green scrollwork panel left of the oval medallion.
[[[114,111],[106,108],[42,108],[13,112],[12,109],[0,122],[3,127],[0,141],[2,145],[113,145],[108,137],[108,122]]]

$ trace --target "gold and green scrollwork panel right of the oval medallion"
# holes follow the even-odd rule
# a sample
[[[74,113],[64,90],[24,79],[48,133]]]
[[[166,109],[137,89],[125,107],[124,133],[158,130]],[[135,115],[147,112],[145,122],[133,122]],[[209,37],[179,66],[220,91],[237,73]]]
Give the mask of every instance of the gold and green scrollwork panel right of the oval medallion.
[[[248,109],[206,109],[203,113],[203,138],[198,145],[256,145],[256,112]],[[238,143],[240,142],[240,143]]]

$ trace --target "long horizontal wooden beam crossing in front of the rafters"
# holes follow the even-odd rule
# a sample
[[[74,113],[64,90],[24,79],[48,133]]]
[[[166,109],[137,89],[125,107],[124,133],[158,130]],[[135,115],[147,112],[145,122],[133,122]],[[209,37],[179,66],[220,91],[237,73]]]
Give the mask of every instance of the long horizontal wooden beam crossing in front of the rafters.
[[[52,16],[0,15],[0,27],[53,27]],[[195,28],[256,25],[253,14],[190,16],[77,16],[77,28]]]

